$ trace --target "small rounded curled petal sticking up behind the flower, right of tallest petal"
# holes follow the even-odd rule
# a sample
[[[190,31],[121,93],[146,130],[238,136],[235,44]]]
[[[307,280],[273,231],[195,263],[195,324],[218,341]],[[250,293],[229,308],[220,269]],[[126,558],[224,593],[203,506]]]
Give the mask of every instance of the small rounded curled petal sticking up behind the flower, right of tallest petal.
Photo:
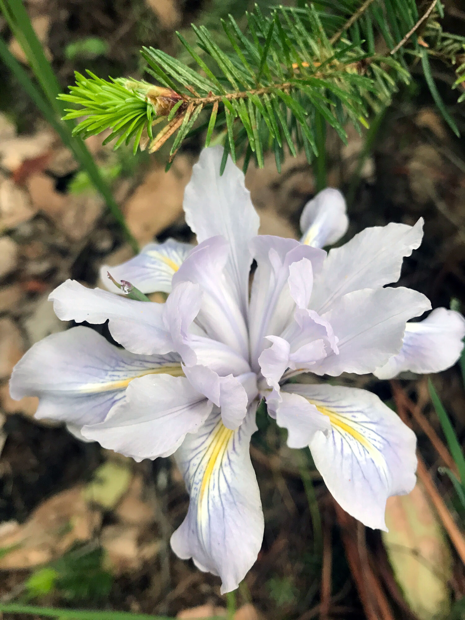
[[[327,187],[304,206],[300,218],[301,243],[330,246],[345,235],[347,228],[345,199],[339,190]]]

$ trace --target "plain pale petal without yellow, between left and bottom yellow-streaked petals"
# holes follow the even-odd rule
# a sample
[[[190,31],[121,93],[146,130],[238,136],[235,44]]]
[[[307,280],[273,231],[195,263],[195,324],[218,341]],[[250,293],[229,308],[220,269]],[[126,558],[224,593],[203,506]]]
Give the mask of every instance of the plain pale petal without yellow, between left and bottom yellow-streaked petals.
[[[169,456],[187,433],[196,433],[213,404],[184,377],[169,374],[133,379],[124,401],[99,424],[82,427],[82,435],[135,461]]]

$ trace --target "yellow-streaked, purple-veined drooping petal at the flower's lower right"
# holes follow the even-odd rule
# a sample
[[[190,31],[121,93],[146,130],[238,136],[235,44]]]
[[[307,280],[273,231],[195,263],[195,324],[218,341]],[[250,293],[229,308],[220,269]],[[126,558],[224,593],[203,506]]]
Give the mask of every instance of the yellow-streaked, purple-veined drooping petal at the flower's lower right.
[[[290,384],[329,418],[331,432],[316,433],[309,447],[337,503],[370,528],[386,529],[391,495],[415,486],[416,438],[378,396],[355,387]]]

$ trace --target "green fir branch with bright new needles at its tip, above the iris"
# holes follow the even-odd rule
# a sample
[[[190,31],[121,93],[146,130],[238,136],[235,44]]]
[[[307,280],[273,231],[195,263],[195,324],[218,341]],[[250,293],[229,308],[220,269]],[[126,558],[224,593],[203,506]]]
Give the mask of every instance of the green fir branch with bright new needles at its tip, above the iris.
[[[192,25],[197,48],[177,33],[192,58],[189,64],[154,48],[141,52],[146,71],[161,87],[76,74],[76,86],[60,99],[79,108],[68,109],[65,118],[85,115],[75,134],[86,138],[111,128],[105,142],[117,139],[118,148],[133,140],[134,152],[149,141],[149,151],[156,151],[175,136],[168,166],[184,139],[206,130],[208,146],[213,131],[221,130],[223,166],[230,153],[233,161],[244,156],[244,169],[252,157],[262,167],[264,151],[272,150],[280,170],[285,149],[293,156],[303,149],[308,161],[322,156],[325,122],[343,141],[347,121],[358,130],[368,126],[370,112],[389,104],[399,82],[409,82],[407,61],[413,56],[458,133],[436,90],[429,58],[461,63],[460,71],[465,38],[441,30],[442,7],[433,4],[422,16],[414,0],[325,0],[279,6],[268,16],[255,6],[246,14],[246,33],[231,15],[221,20],[228,50],[216,43],[217,33]],[[391,51],[376,51],[382,40]],[[157,123],[164,124],[156,132]]]

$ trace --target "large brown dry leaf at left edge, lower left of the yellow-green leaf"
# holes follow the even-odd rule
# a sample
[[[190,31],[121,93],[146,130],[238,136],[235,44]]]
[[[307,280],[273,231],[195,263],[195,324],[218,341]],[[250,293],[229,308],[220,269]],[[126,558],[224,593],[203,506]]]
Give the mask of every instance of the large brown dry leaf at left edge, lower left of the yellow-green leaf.
[[[0,558],[0,569],[28,569],[63,555],[75,542],[89,541],[102,516],[89,508],[76,486],[43,502],[24,523],[0,528],[0,547],[12,551]]]

